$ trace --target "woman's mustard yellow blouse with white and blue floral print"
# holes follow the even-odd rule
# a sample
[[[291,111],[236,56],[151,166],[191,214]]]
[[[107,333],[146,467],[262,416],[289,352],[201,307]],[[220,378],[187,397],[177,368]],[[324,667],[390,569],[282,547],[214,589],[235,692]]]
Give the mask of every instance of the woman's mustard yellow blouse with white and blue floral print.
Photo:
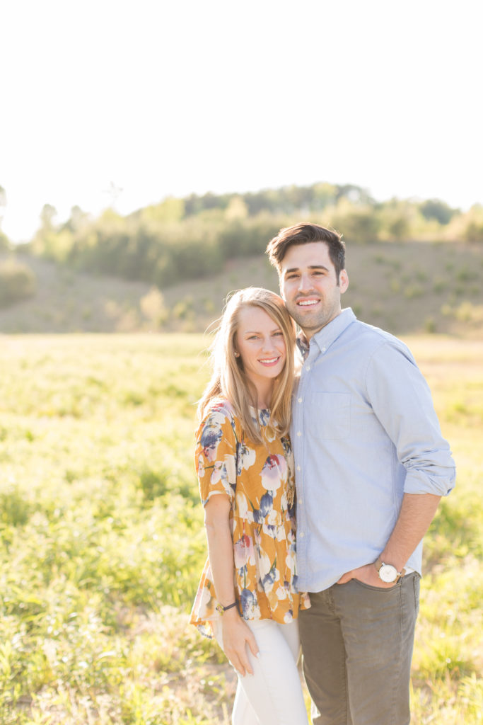
[[[196,471],[203,506],[211,496],[230,497],[238,610],[244,619],[287,623],[310,606],[297,590],[293,454],[269,426],[269,411],[258,415],[264,444],[247,443],[230,403],[214,405],[198,428]],[[207,637],[217,604],[206,561],[190,621]]]

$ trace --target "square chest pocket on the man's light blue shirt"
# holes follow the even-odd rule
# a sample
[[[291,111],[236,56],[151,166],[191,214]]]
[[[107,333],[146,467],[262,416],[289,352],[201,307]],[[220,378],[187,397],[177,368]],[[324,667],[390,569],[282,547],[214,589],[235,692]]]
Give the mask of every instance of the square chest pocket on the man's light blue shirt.
[[[350,433],[350,393],[313,391],[306,425],[316,438],[345,438]]]

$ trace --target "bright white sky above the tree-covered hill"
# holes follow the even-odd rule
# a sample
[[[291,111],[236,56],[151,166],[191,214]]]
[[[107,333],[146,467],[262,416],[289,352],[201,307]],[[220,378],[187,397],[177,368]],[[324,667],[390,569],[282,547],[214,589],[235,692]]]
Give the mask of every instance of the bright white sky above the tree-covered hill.
[[[5,0],[3,231],[355,183],[483,202],[480,0]]]

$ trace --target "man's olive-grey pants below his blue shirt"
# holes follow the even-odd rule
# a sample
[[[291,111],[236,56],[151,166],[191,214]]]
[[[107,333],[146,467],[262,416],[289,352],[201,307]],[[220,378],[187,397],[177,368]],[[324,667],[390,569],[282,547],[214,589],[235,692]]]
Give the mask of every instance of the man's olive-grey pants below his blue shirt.
[[[419,574],[310,593],[299,626],[314,725],[408,725]]]

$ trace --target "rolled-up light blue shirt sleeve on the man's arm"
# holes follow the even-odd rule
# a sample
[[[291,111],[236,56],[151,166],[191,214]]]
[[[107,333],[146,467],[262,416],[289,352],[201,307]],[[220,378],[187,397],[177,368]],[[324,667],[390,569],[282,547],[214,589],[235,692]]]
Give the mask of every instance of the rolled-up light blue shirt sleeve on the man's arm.
[[[404,492],[447,496],[455,485],[453,456],[429,387],[403,343],[386,340],[377,347],[366,368],[366,392],[406,468]]]

